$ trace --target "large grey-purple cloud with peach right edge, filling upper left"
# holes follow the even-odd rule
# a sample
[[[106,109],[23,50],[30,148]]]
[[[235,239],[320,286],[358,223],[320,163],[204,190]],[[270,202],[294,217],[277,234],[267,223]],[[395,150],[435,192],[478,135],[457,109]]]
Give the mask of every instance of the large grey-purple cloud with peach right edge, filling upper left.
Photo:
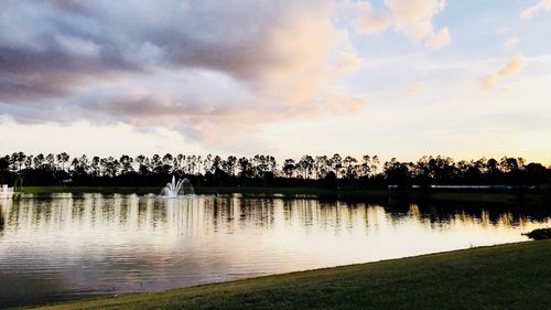
[[[357,114],[367,100],[334,87],[361,64],[335,10],[332,1],[7,1],[0,115],[164,127],[215,143],[282,119]]]

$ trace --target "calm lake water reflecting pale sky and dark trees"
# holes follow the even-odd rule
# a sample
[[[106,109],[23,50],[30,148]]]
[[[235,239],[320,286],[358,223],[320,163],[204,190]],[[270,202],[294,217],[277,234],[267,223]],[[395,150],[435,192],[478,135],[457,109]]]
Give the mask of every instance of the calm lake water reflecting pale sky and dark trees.
[[[0,200],[0,308],[526,240],[480,206],[204,195]]]

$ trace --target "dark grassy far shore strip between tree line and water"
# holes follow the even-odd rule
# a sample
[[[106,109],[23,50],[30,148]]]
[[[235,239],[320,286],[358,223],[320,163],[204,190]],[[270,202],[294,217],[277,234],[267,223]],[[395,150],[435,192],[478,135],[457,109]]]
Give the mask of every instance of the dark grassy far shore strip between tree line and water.
[[[101,193],[101,194],[159,194],[160,186],[25,186],[20,192],[29,194],[52,193]],[[519,196],[515,193],[489,193],[489,192],[457,192],[435,191],[430,194],[419,192],[390,193],[386,190],[334,190],[323,188],[195,188],[195,194],[244,194],[273,196],[312,196],[320,199],[361,200],[367,202],[390,201],[442,201],[442,202],[468,202],[490,204],[545,204],[550,197],[543,194],[525,194]]]

